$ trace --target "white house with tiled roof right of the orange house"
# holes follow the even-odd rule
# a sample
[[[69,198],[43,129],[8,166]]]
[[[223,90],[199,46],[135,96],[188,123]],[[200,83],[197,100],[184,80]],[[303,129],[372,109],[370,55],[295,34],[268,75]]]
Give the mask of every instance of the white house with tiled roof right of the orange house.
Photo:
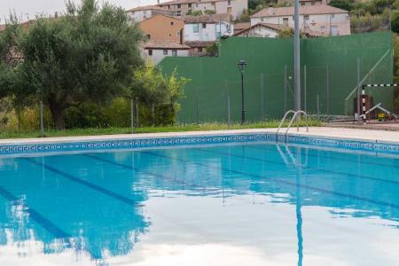
[[[184,21],[184,42],[215,42],[225,35],[232,35],[233,26],[228,13],[182,16]]]

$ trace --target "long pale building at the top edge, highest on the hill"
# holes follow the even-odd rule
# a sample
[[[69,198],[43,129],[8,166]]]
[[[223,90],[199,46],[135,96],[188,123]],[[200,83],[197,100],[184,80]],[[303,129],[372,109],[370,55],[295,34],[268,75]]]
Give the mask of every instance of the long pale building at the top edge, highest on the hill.
[[[215,12],[228,13],[235,20],[248,9],[248,0],[173,0],[157,6],[175,12],[177,16],[191,12]]]

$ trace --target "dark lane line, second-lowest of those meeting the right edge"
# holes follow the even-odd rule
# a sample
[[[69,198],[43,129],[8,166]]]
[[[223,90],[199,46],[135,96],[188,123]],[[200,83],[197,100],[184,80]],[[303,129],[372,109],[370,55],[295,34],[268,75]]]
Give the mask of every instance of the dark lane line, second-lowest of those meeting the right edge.
[[[204,148],[192,148],[192,149],[193,150],[197,150],[197,151],[201,151],[201,152],[215,153],[215,154],[221,154],[221,155],[229,155],[229,156],[237,157],[237,158],[241,158],[241,159],[257,160],[257,161],[269,162],[269,163],[274,163],[274,164],[279,164],[279,165],[286,166],[286,163],[280,162],[280,161],[277,161],[277,160],[265,160],[265,159],[260,159],[260,158],[256,158],[256,157],[251,157],[251,156],[244,156],[244,155],[239,155],[239,154],[234,154],[234,153],[218,152],[218,151],[213,151],[213,150],[204,149]],[[350,173],[330,170],[330,169],[326,169],[326,168],[312,168],[312,167],[304,167],[304,166],[298,166],[298,168],[309,169],[309,170],[314,170],[314,171],[319,171],[319,172],[327,172],[327,173],[331,173],[331,174],[334,174],[334,175],[360,177],[360,178],[364,178],[364,179],[370,179],[370,180],[373,180],[373,181],[385,182],[385,183],[390,183],[390,184],[399,184],[399,181],[395,181],[395,180],[389,180],[389,179],[372,177],[372,176],[362,176],[362,175],[350,174]]]

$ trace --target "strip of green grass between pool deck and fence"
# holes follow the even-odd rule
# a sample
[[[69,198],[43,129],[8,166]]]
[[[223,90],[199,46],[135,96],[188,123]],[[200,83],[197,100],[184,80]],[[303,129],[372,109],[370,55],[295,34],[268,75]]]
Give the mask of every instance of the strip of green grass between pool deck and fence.
[[[260,121],[254,123],[246,123],[241,125],[239,123],[231,124],[230,129],[270,129],[277,128],[279,121]],[[321,125],[321,121],[310,120],[309,126],[317,127]],[[286,126],[286,125],[285,125]],[[300,126],[305,126],[305,121],[300,122]],[[168,127],[143,127],[135,128],[135,133],[158,133],[158,132],[184,132],[184,131],[209,131],[209,130],[223,130],[229,129],[226,123],[212,122],[203,124],[184,124],[179,126]],[[76,136],[98,136],[98,135],[115,135],[115,134],[129,134],[129,128],[99,128],[99,129],[65,129],[55,130],[47,129],[44,134],[45,137],[76,137]],[[21,138],[21,137],[40,137],[40,132],[24,131],[15,129],[2,129],[0,138]]]

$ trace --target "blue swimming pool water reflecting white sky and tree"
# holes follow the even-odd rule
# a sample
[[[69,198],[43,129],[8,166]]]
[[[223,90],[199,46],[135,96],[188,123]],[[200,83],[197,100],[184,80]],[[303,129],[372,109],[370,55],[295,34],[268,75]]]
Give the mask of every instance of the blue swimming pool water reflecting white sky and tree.
[[[0,157],[0,265],[399,265],[399,155],[236,143]]]

